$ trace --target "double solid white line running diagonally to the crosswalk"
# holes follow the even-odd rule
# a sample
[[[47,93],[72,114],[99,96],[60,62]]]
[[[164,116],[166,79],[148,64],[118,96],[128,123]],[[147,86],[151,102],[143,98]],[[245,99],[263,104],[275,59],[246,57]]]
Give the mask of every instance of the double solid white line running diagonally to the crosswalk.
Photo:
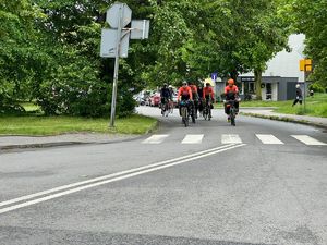
[[[2,201],[2,203],[0,203],[0,206],[5,206],[5,205],[9,205],[9,204],[14,204],[14,203],[32,199],[34,197],[43,196],[40,198],[36,198],[36,199],[33,199],[33,200],[28,200],[28,201],[25,201],[25,203],[21,203],[21,204],[17,204],[17,205],[12,205],[12,206],[2,208],[2,209],[0,209],[0,215],[4,213],[4,212],[12,211],[12,210],[15,210],[15,209],[19,209],[19,208],[27,207],[27,206],[35,205],[35,204],[38,204],[38,203],[43,203],[43,201],[46,201],[46,200],[50,200],[50,199],[53,199],[53,198],[65,196],[65,195],[72,194],[72,193],[76,193],[76,192],[80,192],[80,191],[83,191],[83,189],[96,187],[96,186],[104,185],[104,184],[111,183],[111,182],[116,182],[116,181],[121,181],[121,180],[124,180],[124,179],[128,179],[128,177],[141,175],[141,174],[157,171],[157,170],[160,170],[160,169],[166,169],[166,168],[169,168],[169,167],[172,167],[172,166],[182,164],[182,163],[190,162],[190,161],[193,161],[193,160],[196,160],[196,159],[201,159],[201,158],[205,158],[205,157],[208,157],[208,156],[211,156],[211,155],[215,155],[215,154],[219,154],[219,152],[222,152],[222,151],[226,151],[226,150],[234,149],[234,148],[238,148],[238,147],[241,147],[241,146],[244,146],[244,145],[245,144],[225,145],[225,146],[216,147],[216,148],[213,148],[213,149],[203,150],[203,151],[199,151],[199,152],[196,152],[196,154],[192,154],[192,155],[189,155],[189,156],[161,161],[161,162],[153,163],[153,164],[149,164],[149,166],[144,166],[144,167],[122,171],[122,172],[119,172],[119,173],[105,175],[105,176],[101,176],[101,177],[96,177],[96,179],[93,179],[93,180],[74,183],[74,184],[71,184],[71,185],[60,186],[58,188],[52,188],[52,189],[48,189],[48,191],[45,191],[45,192],[27,195],[27,196],[22,196],[22,197],[11,199],[11,200],[8,200],[8,201]],[[111,179],[109,179],[109,177],[111,177]],[[109,180],[106,180],[106,179],[109,179]],[[101,180],[104,180],[104,181],[101,181]],[[93,182],[95,182],[95,183],[93,183]],[[85,183],[90,183],[90,184],[83,185]],[[75,187],[75,188],[70,188],[70,187],[78,186],[78,185],[83,185],[83,186]],[[70,188],[70,189],[68,189],[68,188]],[[55,193],[55,192],[60,191],[60,189],[66,189],[66,191],[45,196],[47,193],[51,194],[51,193]]]

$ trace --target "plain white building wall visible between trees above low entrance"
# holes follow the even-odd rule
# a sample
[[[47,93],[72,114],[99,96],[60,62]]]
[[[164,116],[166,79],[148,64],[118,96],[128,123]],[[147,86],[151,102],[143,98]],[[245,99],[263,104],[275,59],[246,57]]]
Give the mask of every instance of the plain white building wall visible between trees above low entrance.
[[[304,81],[304,74],[299,69],[299,62],[304,59],[304,39],[303,34],[293,34],[289,37],[289,47],[291,52],[282,50],[278,52],[267,63],[267,70],[263,76],[282,76],[282,77],[299,77],[299,82]],[[241,76],[253,76],[253,73],[242,74]]]

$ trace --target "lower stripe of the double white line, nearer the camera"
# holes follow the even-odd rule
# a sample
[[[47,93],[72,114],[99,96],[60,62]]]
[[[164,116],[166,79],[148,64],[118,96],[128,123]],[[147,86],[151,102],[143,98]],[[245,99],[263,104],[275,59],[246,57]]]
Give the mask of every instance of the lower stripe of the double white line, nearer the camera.
[[[238,148],[238,147],[241,147],[241,146],[244,146],[244,145],[245,144],[231,145],[231,146],[225,147],[225,148],[221,147],[221,149],[217,149],[217,150],[207,150],[208,152],[203,154],[203,155],[198,155],[198,156],[195,156],[195,157],[192,157],[192,158],[187,158],[187,159],[183,159],[183,160],[180,160],[180,161],[167,163],[167,164],[164,164],[164,166],[150,168],[150,169],[147,169],[147,170],[130,173],[130,174],[126,174],[126,175],[123,175],[123,176],[118,176],[118,177],[114,177],[114,179],[93,183],[93,184],[89,184],[89,185],[80,186],[80,187],[76,187],[76,188],[68,189],[65,192],[56,193],[53,195],[49,195],[49,196],[45,196],[45,197],[41,197],[41,198],[38,198],[38,199],[22,203],[22,204],[19,204],[19,205],[13,205],[13,206],[0,209],[0,215],[4,213],[4,212],[12,211],[12,210],[15,210],[15,209],[19,209],[19,208],[27,207],[27,206],[35,205],[35,204],[38,204],[38,203],[43,203],[43,201],[46,201],[46,200],[50,200],[50,199],[53,199],[53,198],[65,196],[65,195],[72,194],[72,193],[81,192],[83,189],[96,187],[96,186],[104,185],[104,184],[111,183],[111,182],[116,182],[116,181],[121,181],[121,180],[124,180],[124,179],[128,179],[128,177],[141,175],[141,174],[144,174],[144,173],[154,172],[154,171],[157,171],[157,170],[160,170],[160,169],[166,169],[166,168],[169,168],[169,167],[172,167],[172,166],[182,164],[182,163],[190,162],[190,161],[193,161],[193,160],[196,160],[196,159],[199,159],[199,158],[208,157],[208,156],[219,154],[219,152],[222,152],[222,151],[226,151],[226,150]]]

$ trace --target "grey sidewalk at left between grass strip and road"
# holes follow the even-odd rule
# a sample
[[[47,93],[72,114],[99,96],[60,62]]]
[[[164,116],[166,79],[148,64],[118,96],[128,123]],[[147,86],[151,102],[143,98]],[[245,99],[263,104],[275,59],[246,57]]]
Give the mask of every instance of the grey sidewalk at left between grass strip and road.
[[[0,151],[77,144],[108,144],[130,140],[137,137],[140,137],[140,135],[111,135],[96,133],[63,134],[55,136],[0,136]]]

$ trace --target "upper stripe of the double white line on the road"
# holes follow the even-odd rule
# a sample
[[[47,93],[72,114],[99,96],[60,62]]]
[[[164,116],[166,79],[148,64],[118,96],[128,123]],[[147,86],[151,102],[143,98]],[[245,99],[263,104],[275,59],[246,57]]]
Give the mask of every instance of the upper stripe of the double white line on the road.
[[[222,148],[227,148],[229,146],[232,146],[232,145],[219,146],[219,147],[215,147],[215,148],[211,148],[211,149],[207,149],[207,150],[198,151],[198,152],[195,152],[195,154],[186,155],[186,156],[183,156],[183,157],[178,157],[178,158],[173,158],[173,159],[170,159],[170,160],[165,160],[165,161],[152,163],[152,164],[148,164],[148,166],[143,166],[143,167],[138,167],[138,168],[134,168],[134,169],[130,169],[130,170],[125,170],[125,171],[121,171],[121,172],[117,172],[117,173],[95,177],[95,179],[92,179],[92,180],[76,182],[76,183],[73,183],[73,184],[68,184],[68,185],[59,186],[59,187],[56,187],[56,188],[47,189],[47,191],[44,191],[44,192],[38,192],[38,193],[35,193],[35,194],[17,197],[17,198],[14,198],[14,199],[10,199],[10,200],[5,200],[5,201],[0,203],[0,207],[5,206],[5,205],[10,205],[10,204],[14,204],[14,203],[19,203],[19,201],[23,201],[23,200],[27,200],[27,199],[32,199],[32,198],[35,198],[35,197],[44,196],[44,195],[51,194],[51,193],[55,193],[55,192],[76,187],[76,186],[80,186],[80,185],[89,184],[89,183],[93,183],[93,182],[98,182],[98,181],[102,181],[102,180],[106,180],[106,179],[116,177],[116,176],[119,176],[119,175],[122,175],[122,174],[128,174],[128,173],[132,173],[132,172],[135,172],[135,171],[157,167],[157,166],[160,166],[160,164],[166,164],[166,163],[169,163],[169,162],[179,161],[179,160],[182,160],[182,159],[185,159],[185,158],[196,157],[198,155],[203,155],[203,154],[206,154],[206,152],[219,150],[219,149],[222,149]]]

